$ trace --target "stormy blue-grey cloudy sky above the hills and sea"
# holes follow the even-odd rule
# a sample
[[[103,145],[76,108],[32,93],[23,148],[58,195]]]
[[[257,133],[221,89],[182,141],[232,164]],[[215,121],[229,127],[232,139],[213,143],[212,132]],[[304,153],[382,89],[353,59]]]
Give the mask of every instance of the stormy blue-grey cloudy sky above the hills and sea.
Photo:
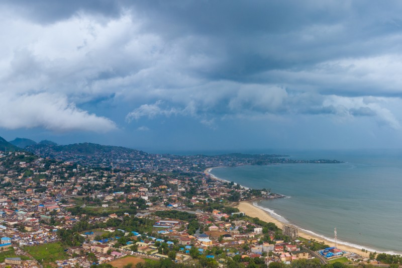
[[[402,147],[400,1],[0,1],[0,136]]]

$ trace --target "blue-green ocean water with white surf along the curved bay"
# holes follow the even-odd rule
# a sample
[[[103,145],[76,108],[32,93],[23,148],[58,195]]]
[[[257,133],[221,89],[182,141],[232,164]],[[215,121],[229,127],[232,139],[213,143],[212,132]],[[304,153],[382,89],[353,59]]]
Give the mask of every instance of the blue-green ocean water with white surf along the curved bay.
[[[308,232],[377,252],[402,253],[402,152],[296,152],[292,159],[336,159],[341,164],[274,164],[214,168],[211,173],[289,198],[257,206]]]

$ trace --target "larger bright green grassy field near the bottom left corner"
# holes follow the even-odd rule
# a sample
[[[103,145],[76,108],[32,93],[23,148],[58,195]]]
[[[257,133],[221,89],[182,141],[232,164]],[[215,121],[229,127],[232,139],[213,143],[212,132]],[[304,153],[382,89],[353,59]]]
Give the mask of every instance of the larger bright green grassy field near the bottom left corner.
[[[26,246],[24,250],[31,254],[36,260],[46,267],[49,263],[58,259],[66,259],[68,255],[64,252],[64,248],[60,242]],[[42,261],[43,260],[43,261]]]

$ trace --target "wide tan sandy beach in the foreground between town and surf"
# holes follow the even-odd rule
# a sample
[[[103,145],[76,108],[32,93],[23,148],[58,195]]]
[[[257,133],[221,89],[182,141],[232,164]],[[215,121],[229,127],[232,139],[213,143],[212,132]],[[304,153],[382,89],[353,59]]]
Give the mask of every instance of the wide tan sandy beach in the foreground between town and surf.
[[[263,220],[265,222],[273,222],[276,224],[276,226],[278,226],[279,228],[282,228],[282,222],[278,221],[277,219],[273,218],[268,212],[259,209],[255,206],[253,206],[253,204],[251,204],[250,202],[240,202],[238,206],[236,206],[241,212],[244,212],[246,215],[250,216],[250,217],[258,217],[260,220]],[[321,237],[318,236],[314,236],[312,234],[300,231],[298,232],[300,237],[306,238],[306,239],[316,239],[317,241],[324,241],[326,244],[330,245],[330,246],[335,246],[334,242],[325,240]],[[361,251],[361,248],[355,248],[352,246],[347,246],[347,245],[343,245],[343,244],[338,244],[338,248],[345,250],[345,251],[349,251],[349,252],[355,252],[357,254],[360,254],[364,257],[368,257],[369,253],[363,253]]]

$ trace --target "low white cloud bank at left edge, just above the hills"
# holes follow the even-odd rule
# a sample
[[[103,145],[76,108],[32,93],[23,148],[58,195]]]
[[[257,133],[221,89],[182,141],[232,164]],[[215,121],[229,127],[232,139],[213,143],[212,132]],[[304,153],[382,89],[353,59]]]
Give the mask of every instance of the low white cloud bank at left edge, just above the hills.
[[[0,93],[0,127],[7,129],[41,127],[56,132],[116,129],[105,118],[80,110],[63,96],[49,93],[11,95]]]

